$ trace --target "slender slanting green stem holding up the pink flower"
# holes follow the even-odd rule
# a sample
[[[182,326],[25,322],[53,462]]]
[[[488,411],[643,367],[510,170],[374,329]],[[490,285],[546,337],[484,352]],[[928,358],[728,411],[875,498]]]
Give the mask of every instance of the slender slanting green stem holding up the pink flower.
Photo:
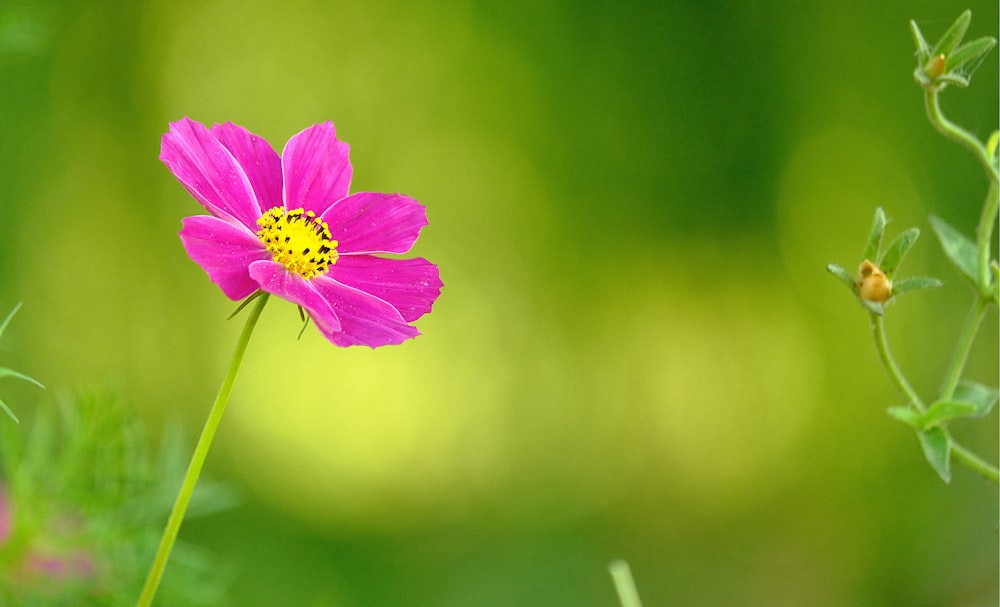
[[[243,332],[240,333],[239,341],[236,342],[236,351],[233,353],[232,362],[229,363],[229,371],[226,373],[226,378],[222,381],[219,394],[215,397],[212,409],[208,413],[208,419],[205,420],[205,427],[202,428],[201,437],[198,438],[198,444],[195,446],[194,454],[191,456],[191,463],[188,465],[187,474],[184,475],[184,482],[181,483],[180,491],[177,493],[174,508],[170,512],[170,518],[167,519],[167,526],[163,530],[163,537],[160,538],[160,547],[156,551],[156,559],[149,570],[149,576],[146,578],[146,584],[142,588],[142,594],[139,596],[139,602],[136,603],[136,607],[149,607],[153,603],[153,597],[156,596],[156,589],[160,585],[160,578],[163,577],[163,571],[167,567],[167,559],[170,558],[170,551],[177,540],[177,532],[180,531],[181,522],[184,520],[184,513],[187,511],[188,503],[191,501],[195,485],[198,484],[198,476],[201,474],[202,466],[205,464],[208,450],[212,446],[215,431],[219,428],[222,414],[226,410],[229,395],[233,391],[233,384],[236,381],[236,375],[240,371],[243,355],[246,353],[247,344],[250,343],[250,335],[253,333],[254,325],[257,324],[257,319],[260,318],[260,313],[264,309],[267,299],[268,296],[266,293],[257,298],[257,304],[250,310],[250,316],[247,317]]]

